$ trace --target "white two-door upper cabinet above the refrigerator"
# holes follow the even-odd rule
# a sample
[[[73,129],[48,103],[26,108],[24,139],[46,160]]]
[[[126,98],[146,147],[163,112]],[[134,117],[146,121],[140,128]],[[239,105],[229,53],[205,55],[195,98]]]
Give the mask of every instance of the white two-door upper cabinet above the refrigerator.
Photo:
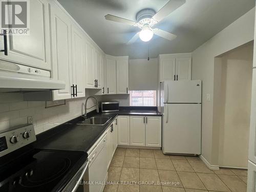
[[[191,53],[159,55],[160,82],[191,80]]]

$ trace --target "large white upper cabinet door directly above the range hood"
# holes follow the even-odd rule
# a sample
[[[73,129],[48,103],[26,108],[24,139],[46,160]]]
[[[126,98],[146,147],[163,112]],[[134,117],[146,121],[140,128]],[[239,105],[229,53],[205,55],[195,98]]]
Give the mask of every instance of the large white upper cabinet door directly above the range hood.
[[[47,1],[30,1],[29,35],[9,35],[8,55],[1,52],[0,59],[51,70],[49,20]],[[2,41],[3,36],[0,36],[0,38]],[[3,45],[2,42],[0,44]]]

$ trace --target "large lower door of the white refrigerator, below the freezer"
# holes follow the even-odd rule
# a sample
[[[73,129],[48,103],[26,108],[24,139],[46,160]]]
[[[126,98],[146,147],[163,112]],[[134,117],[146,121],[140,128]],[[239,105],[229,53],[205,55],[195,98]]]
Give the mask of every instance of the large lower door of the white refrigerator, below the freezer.
[[[201,154],[201,104],[164,104],[163,153]]]

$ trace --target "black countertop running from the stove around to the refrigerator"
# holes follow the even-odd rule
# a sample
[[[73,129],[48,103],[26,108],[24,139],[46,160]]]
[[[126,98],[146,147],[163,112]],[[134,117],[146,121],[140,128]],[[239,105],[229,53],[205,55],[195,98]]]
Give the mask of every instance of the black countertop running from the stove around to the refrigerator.
[[[87,152],[100,138],[118,115],[162,115],[157,108],[122,108],[116,113],[99,113],[95,111],[88,114],[92,116],[111,117],[111,120],[103,126],[100,125],[77,125],[82,117],[58,125],[51,130],[36,136],[35,148],[45,150],[80,151]]]

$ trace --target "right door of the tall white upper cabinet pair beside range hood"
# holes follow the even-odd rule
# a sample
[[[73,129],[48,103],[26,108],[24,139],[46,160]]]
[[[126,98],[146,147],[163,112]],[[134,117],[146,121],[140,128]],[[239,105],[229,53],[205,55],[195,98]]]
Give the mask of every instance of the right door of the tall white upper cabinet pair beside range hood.
[[[77,86],[77,96],[85,97],[84,86],[85,63],[84,63],[84,38],[80,29],[72,27],[72,50],[73,50],[73,82]]]

